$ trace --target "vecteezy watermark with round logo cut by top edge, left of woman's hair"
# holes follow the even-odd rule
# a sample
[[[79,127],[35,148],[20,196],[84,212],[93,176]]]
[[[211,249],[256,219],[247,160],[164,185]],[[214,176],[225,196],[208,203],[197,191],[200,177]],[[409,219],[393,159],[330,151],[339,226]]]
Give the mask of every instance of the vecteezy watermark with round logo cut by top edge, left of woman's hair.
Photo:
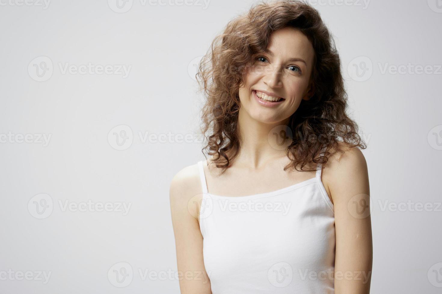
[[[202,6],[205,10],[209,7],[210,0],[139,0],[141,6]],[[133,6],[133,0],[107,0],[107,5],[112,11],[125,13]]]

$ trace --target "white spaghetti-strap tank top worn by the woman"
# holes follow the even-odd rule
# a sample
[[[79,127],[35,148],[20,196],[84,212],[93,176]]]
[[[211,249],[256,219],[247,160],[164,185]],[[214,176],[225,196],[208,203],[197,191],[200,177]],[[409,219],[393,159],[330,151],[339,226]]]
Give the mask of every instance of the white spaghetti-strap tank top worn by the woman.
[[[199,227],[213,294],[334,294],[333,204],[316,177],[276,191],[208,193],[198,162]]]

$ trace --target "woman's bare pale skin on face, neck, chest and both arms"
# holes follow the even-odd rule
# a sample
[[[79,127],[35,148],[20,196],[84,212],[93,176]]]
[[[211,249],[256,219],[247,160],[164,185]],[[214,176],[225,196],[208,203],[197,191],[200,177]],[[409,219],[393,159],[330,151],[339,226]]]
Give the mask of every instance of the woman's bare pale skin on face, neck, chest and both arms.
[[[305,35],[290,27],[275,31],[268,49],[273,56],[269,53],[253,56],[257,61],[239,91],[238,123],[243,139],[239,155],[223,175],[216,167],[204,167],[210,194],[236,197],[266,193],[315,177],[315,171],[284,171],[282,167],[290,160],[284,150],[272,147],[267,137],[272,128],[288,122],[302,99],[308,100],[314,93],[309,78],[314,50]],[[260,56],[265,59],[258,58]],[[305,63],[289,61],[292,57]],[[274,92],[286,100],[276,108],[266,108],[257,103],[252,89]],[[367,294],[373,252],[370,215],[354,217],[357,214],[352,209],[356,208],[348,205],[355,195],[370,195],[367,164],[359,149],[347,148],[343,143],[341,148],[346,151],[329,157],[322,171],[322,182],[335,211],[335,273],[341,274],[340,279],[335,276],[335,294]],[[210,273],[207,274],[204,267],[203,238],[198,224],[201,198],[198,166],[183,168],[170,186],[182,294],[211,294]],[[368,205],[368,198],[366,200]]]

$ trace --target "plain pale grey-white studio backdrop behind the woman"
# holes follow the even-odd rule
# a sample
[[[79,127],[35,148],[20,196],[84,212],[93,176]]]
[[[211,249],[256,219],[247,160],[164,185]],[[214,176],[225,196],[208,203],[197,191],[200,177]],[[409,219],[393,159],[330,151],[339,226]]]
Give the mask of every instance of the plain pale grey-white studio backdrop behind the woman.
[[[372,293],[442,290],[436,1],[311,1],[335,37],[349,113],[368,143],[362,152],[373,201]],[[203,158],[195,66],[253,2],[160,3],[166,5],[133,0],[119,9],[112,0],[0,0],[1,294],[179,293],[167,273],[176,272],[168,192],[176,172]],[[35,66],[47,61],[41,56],[52,75],[36,75]],[[89,63],[110,65],[112,73],[63,71]],[[383,71],[408,63],[402,74]],[[119,65],[130,67],[127,77]],[[416,73],[427,65],[427,73]],[[120,148],[113,133],[124,130],[132,143]],[[146,132],[168,137],[143,141]],[[18,142],[20,134],[31,134],[31,142]],[[39,134],[51,136],[48,144],[36,140]],[[180,134],[191,141],[177,142]],[[50,197],[49,215],[35,210],[44,204],[39,194]],[[88,200],[131,206],[126,215],[63,206]],[[410,201],[405,209],[384,209]],[[432,209],[415,211],[416,203]],[[122,266],[133,274],[119,288],[112,273]],[[9,269],[51,275],[47,283],[4,279]],[[140,271],[166,275],[143,278]]]

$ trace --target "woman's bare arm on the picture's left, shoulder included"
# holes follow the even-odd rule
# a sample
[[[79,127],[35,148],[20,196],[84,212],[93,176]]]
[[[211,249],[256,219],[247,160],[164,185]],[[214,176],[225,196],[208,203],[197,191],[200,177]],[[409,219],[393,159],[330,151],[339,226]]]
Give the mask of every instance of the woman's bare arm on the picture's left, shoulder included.
[[[212,294],[204,267],[198,223],[202,192],[198,167],[185,167],[172,179],[170,205],[181,294]]]

